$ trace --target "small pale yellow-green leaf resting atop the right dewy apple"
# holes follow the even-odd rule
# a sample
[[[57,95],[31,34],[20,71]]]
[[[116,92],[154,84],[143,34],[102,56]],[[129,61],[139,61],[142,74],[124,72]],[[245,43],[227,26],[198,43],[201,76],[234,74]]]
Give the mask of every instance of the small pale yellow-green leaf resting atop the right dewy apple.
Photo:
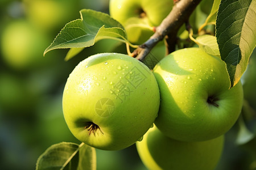
[[[212,35],[201,35],[196,37],[199,48],[206,53],[220,57],[216,37]]]

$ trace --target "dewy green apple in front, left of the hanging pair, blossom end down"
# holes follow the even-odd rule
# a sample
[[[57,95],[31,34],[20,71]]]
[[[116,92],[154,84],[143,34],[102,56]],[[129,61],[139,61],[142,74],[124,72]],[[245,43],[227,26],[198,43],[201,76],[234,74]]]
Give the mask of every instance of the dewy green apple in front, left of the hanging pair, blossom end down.
[[[84,59],[63,93],[64,118],[72,134],[102,150],[121,150],[138,141],[157,117],[159,103],[152,71],[118,53]]]

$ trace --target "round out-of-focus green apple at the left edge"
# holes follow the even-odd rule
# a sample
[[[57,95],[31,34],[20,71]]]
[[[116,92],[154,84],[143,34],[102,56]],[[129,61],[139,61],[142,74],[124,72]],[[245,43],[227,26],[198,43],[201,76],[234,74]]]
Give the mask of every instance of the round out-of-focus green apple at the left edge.
[[[48,62],[43,58],[48,36],[35,29],[27,20],[13,20],[1,34],[1,53],[7,65],[14,69],[28,69]]]

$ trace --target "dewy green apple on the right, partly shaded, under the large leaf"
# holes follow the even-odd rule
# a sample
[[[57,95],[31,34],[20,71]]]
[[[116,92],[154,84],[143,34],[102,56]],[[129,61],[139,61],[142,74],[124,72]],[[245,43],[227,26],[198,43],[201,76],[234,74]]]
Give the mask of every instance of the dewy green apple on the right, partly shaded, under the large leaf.
[[[153,73],[161,99],[155,125],[168,137],[205,141],[226,133],[237,121],[242,84],[229,90],[229,76],[220,58],[199,48],[176,50]]]

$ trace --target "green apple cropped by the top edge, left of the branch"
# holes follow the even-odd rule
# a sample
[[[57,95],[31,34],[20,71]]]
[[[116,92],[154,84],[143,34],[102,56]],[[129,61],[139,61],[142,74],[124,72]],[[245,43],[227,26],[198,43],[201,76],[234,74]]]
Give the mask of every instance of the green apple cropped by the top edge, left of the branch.
[[[170,13],[173,3],[173,0],[110,0],[109,12],[125,27],[131,43],[142,44],[153,35],[153,27]]]

